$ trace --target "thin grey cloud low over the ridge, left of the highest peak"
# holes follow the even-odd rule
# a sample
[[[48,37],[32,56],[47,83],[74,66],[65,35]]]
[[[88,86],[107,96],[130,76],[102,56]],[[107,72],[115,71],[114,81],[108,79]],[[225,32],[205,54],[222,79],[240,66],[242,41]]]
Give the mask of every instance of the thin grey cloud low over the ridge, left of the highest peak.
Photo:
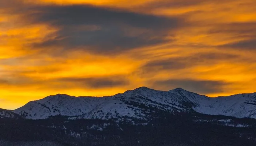
[[[92,77],[92,78],[59,78],[56,81],[61,84],[75,84],[78,87],[85,87],[91,89],[99,89],[99,88],[112,88],[118,86],[128,85],[129,81],[125,78],[119,77]]]

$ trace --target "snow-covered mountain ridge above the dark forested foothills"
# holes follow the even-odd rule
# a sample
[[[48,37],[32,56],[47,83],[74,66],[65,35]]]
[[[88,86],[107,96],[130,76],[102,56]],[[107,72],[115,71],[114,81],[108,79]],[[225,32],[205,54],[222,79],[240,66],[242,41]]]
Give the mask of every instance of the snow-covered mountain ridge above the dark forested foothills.
[[[166,92],[140,87],[107,97],[58,94],[30,101],[13,112],[28,119],[56,115],[82,119],[147,119],[156,110],[256,118],[256,93],[211,98],[182,88]]]

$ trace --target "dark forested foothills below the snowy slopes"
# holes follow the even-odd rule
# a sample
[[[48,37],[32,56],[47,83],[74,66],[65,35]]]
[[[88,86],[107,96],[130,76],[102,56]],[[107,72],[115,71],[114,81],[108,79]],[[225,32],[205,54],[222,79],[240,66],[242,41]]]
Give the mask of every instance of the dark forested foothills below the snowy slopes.
[[[255,146],[256,120],[165,111],[130,122],[6,118],[0,119],[0,139],[4,146]]]

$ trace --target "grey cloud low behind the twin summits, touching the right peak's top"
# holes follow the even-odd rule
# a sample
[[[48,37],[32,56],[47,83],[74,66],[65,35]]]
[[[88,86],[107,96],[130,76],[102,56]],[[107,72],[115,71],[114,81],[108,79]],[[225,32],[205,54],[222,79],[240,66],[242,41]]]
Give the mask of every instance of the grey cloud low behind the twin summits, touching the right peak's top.
[[[195,93],[210,94],[223,92],[223,87],[226,85],[229,85],[229,83],[224,81],[170,79],[163,81],[155,81],[153,87],[164,90],[181,87]]]

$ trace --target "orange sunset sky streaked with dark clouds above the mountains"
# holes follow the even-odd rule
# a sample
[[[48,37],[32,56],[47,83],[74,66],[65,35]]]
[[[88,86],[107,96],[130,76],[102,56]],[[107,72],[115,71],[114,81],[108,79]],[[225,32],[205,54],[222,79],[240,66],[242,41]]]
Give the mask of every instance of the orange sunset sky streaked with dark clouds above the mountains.
[[[1,0],[0,108],[146,86],[256,92],[255,0]]]

